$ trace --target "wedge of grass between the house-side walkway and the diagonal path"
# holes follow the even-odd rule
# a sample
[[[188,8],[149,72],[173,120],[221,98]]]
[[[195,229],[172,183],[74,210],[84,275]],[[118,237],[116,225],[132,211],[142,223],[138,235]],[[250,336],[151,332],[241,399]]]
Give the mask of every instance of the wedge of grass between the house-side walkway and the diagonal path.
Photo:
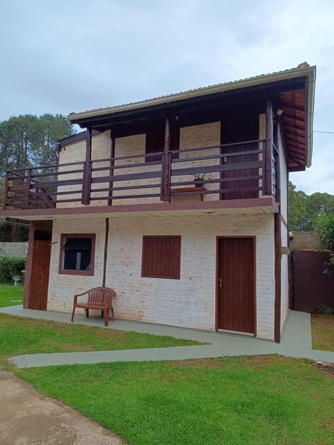
[[[33,353],[166,348],[196,344],[200,343],[167,336],[0,314],[0,355],[6,357]]]

